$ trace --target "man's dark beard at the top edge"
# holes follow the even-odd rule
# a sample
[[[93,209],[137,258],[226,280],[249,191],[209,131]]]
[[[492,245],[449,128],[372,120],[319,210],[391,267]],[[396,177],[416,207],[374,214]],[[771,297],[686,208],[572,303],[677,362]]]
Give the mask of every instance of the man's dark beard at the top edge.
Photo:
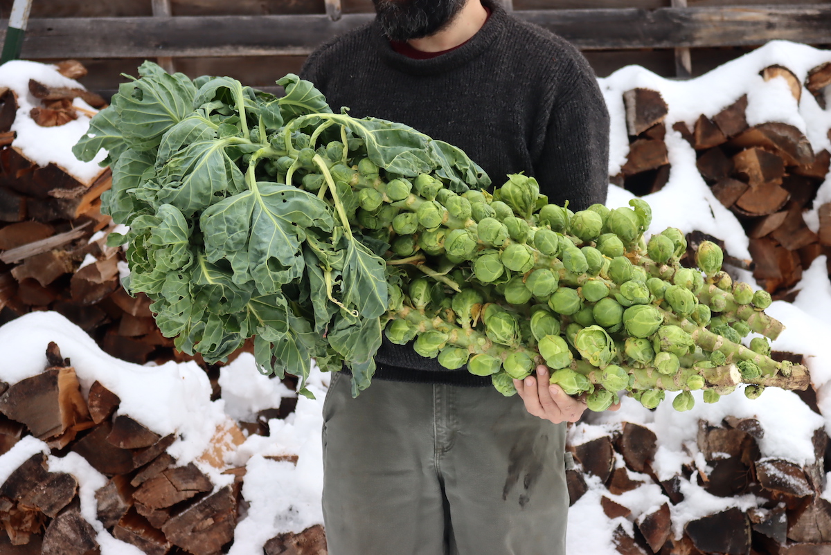
[[[378,22],[393,41],[430,37],[447,27],[465,0],[372,0]]]

